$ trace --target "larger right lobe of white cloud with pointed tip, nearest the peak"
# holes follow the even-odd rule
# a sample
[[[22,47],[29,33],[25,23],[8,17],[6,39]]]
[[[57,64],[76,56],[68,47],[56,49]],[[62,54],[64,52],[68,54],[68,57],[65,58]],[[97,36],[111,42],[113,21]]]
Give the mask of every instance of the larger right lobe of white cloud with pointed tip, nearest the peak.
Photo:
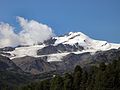
[[[22,44],[33,45],[43,42],[53,36],[52,29],[34,20],[17,17],[22,31],[19,33]]]

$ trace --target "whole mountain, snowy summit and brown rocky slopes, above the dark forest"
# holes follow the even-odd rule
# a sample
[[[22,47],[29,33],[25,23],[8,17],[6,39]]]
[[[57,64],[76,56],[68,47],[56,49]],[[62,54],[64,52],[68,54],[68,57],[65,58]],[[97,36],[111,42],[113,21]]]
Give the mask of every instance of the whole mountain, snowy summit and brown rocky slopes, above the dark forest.
[[[71,71],[76,65],[89,68],[120,58],[120,44],[95,40],[81,32],[52,37],[37,45],[0,49],[0,67],[30,74]]]

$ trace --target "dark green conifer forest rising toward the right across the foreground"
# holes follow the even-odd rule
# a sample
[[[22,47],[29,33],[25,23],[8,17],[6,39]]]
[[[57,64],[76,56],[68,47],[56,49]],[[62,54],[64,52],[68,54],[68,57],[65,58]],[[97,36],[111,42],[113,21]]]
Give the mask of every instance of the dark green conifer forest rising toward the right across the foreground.
[[[3,85],[0,90],[10,90],[8,87]],[[12,90],[120,90],[120,60],[113,60],[109,64],[102,62],[89,69],[76,66],[72,73],[55,75]]]

